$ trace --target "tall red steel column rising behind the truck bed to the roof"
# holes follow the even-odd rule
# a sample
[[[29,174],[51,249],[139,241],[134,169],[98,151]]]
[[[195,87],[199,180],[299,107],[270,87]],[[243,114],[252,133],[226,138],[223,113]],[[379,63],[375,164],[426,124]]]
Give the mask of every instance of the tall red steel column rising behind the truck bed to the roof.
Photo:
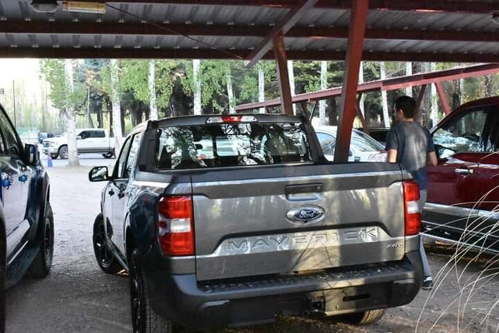
[[[353,119],[356,116],[358,75],[368,6],[369,0],[352,1],[347,59],[338,117],[338,135],[335,144],[335,162],[348,162]]]

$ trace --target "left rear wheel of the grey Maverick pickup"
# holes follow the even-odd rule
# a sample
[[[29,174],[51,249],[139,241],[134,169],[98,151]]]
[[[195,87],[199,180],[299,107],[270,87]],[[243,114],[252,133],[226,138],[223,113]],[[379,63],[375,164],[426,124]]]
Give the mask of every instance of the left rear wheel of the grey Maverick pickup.
[[[139,251],[132,251],[129,262],[130,306],[134,333],[173,333],[173,323],[159,316],[150,306],[149,291],[140,264]]]

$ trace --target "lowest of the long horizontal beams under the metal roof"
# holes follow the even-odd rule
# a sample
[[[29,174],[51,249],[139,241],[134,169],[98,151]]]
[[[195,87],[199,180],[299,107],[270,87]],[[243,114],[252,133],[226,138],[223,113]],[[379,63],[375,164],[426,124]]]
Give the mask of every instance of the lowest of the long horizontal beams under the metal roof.
[[[222,52],[223,51],[223,52]],[[0,47],[0,58],[165,58],[165,59],[228,59],[227,53],[247,59],[249,50],[216,49],[115,49],[101,48],[52,48],[52,47]],[[225,53],[227,52],[227,53]],[[344,51],[292,51],[286,50],[288,60],[344,60]],[[269,52],[263,59],[272,60]],[[493,53],[432,53],[432,52],[367,52],[362,54],[365,61],[418,61],[418,62],[493,62],[499,55]]]

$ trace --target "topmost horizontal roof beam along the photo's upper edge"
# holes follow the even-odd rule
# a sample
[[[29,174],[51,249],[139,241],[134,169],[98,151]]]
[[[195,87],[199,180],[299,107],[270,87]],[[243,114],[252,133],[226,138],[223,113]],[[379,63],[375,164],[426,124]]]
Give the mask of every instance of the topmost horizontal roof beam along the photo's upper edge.
[[[95,0],[80,0],[95,2]],[[295,8],[300,0],[207,0],[202,5],[199,0],[117,0],[108,3],[156,3],[156,4],[192,4],[219,6],[265,6],[272,8]],[[350,9],[351,0],[319,0],[317,8]],[[401,11],[441,11],[441,12],[475,12],[490,13],[499,11],[497,1],[488,0],[371,0],[370,10],[401,10]]]

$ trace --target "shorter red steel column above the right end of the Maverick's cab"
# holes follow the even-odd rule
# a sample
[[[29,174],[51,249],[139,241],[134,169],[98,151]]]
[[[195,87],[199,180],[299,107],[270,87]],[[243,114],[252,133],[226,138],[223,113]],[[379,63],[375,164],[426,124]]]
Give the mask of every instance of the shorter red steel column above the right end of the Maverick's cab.
[[[274,56],[277,63],[277,81],[281,92],[281,110],[283,114],[292,115],[292,96],[288,74],[288,59],[286,58],[286,46],[284,46],[284,35],[278,33],[274,37]]]

